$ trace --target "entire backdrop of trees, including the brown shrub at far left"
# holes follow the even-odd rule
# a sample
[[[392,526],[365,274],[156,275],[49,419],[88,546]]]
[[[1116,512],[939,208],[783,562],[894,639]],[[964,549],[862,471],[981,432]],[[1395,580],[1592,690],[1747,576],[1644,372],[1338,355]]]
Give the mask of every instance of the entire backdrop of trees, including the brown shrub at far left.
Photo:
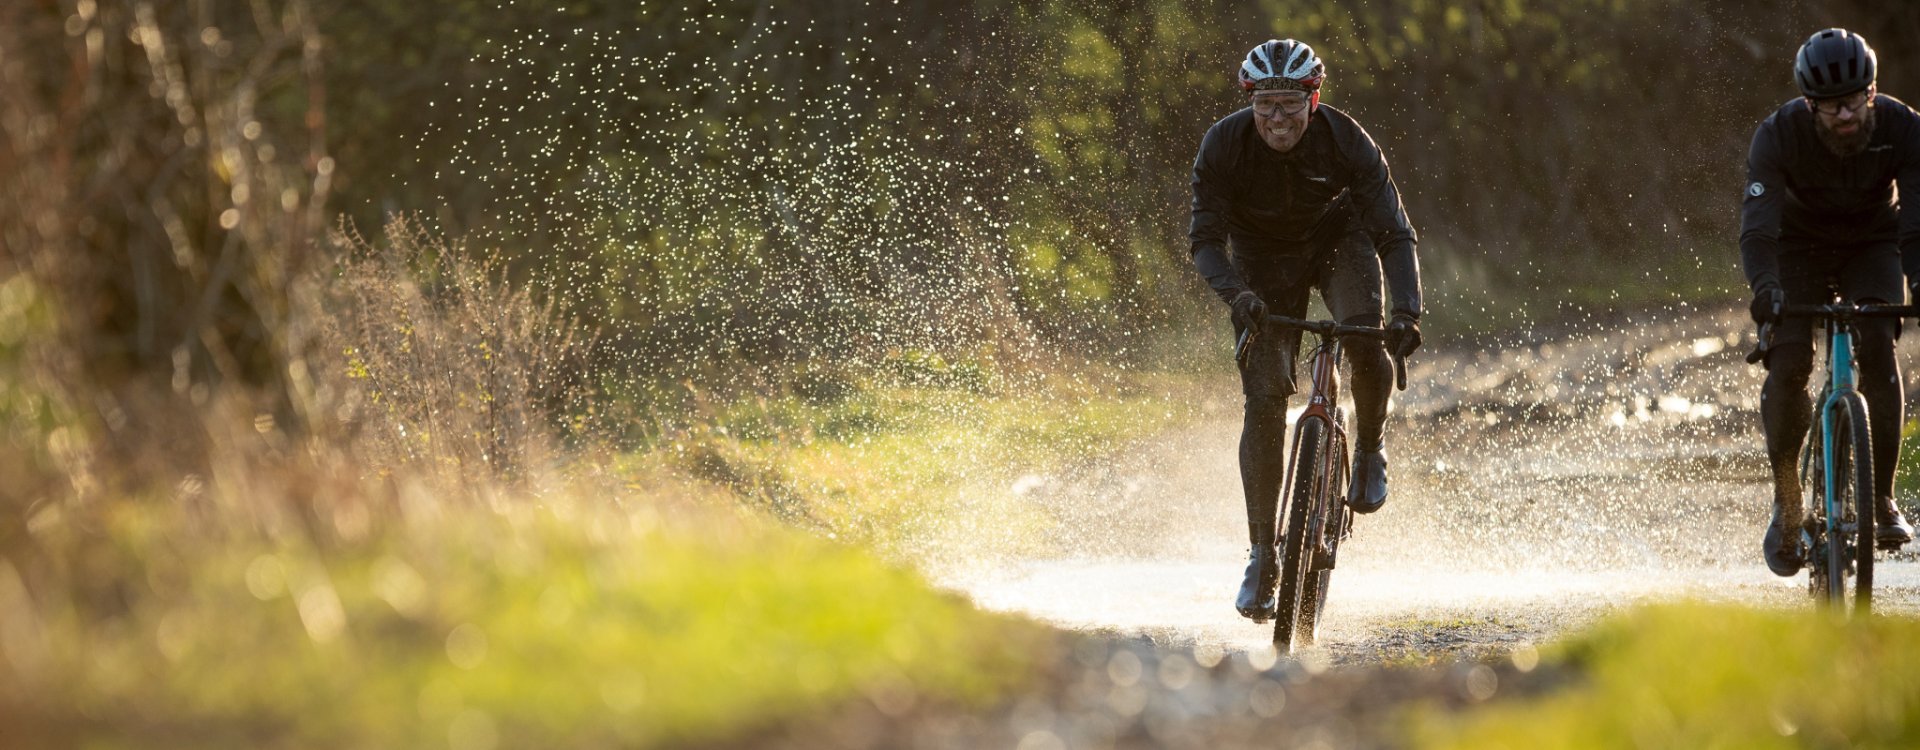
[[[1876,2],[8,4],[0,351],[58,376],[6,414],[138,432],[129,403],[244,384],[315,424],[342,217],[503,259],[637,401],[1144,357],[1217,313],[1188,165],[1269,36],[1384,146],[1440,313],[1732,297],[1747,138],[1826,25],[1916,86],[1920,15]]]

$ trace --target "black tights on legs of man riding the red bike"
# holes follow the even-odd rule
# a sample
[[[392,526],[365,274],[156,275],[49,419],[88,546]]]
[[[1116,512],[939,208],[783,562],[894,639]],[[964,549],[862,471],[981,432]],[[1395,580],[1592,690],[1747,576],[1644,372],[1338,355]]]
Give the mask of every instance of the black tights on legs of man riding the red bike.
[[[1354,368],[1352,447],[1379,449],[1386,399],[1394,389],[1392,361],[1379,341],[1350,340],[1344,351]],[[1309,376],[1308,372],[1302,380]],[[1277,539],[1281,481],[1286,481],[1286,397],[1248,395],[1240,428],[1240,485],[1246,491],[1246,533],[1256,547],[1271,547]]]

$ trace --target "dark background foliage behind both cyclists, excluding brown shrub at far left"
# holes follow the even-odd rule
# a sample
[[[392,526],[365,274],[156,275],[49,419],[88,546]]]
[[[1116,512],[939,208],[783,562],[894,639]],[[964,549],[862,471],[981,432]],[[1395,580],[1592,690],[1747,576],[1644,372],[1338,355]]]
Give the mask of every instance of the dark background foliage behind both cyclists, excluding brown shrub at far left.
[[[336,105],[409,134],[336,130],[342,153],[380,150],[342,155],[376,167],[349,169],[348,211],[444,203],[451,230],[541,247],[518,267],[563,269],[559,293],[618,328],[607,364],[708,386],[743,372],[716,361],[985,341],[1008,366],[1179,336],[1206,303],[1188,163],[1265,36],[1329,59],[1327,102],[1384,146],[1448,315],[1586,303],[1626,284],[1609,274],[1734,290],[1726,186],[1791,96],[1793,46],[1872,29],[1897,92],[1920,40],[1884,4],[1789,0],[516,2],[453,21],[394,2],[326,23]]]

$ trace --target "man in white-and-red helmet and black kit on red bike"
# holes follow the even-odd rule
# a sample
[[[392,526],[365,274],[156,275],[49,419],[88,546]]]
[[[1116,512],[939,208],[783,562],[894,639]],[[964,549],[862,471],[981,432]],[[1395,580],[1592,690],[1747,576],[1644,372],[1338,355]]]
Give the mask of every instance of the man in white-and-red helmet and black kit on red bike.
[[[1240,63],[1248,107],[1208,129],[1194,157],[1192,259],[1233,311],[1235,336],[1252,328],[1240,368],[1246,414],[1240,483],[1254,545],[1235,606],[1267,620],[1277,608],[1275,508],[1284,472],[1286,397],[1294,393],[1300,332],[1261,332],[1269,309],[1304,316],[1317,288],[1340,322],[1380,326],[1382,267],[1392,288],[1388,340],[1346,341],[1354,368],[1354,485],[1348,506],[1386,503],[1380,428],[1392,393],[1388,351],[1421,345],[1421,278],[1413,226],[1386,157],[1367,130],[1319,102],[1325,65],[1296,40],[1267,40]],[[1233,251],[1227,251],[1227,246]]]

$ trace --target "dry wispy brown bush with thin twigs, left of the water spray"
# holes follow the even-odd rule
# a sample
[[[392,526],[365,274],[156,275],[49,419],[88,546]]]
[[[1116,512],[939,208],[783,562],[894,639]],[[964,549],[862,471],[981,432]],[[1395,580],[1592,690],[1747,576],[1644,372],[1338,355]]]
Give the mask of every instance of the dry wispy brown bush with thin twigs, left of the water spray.
[[[323,286],[323,364],[340,426],[374,466],[511,476],[541,466],[553,437],[584,434],[591,341],[553,301],[511,288],[497,257],[474,259],[407,219],[382,242],[344,226]]]

